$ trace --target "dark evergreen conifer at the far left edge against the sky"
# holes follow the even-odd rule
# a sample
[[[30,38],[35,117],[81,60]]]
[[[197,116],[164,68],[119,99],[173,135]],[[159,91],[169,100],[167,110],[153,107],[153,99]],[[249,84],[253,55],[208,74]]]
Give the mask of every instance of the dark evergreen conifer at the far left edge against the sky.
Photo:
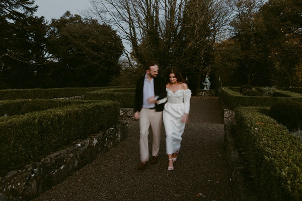
[[[37,87],[47,62],[47,25],[33,0],[0,1],[0,89]]]

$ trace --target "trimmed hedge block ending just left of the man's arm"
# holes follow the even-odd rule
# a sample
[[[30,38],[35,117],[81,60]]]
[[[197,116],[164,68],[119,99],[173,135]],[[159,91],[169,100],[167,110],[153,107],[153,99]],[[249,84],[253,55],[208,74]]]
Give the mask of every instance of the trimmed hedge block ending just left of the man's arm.
[[[90,100],[114,100],[120,103],[122,108],[134,108],[135,88],[103,89],[87,92],[85,99]]]

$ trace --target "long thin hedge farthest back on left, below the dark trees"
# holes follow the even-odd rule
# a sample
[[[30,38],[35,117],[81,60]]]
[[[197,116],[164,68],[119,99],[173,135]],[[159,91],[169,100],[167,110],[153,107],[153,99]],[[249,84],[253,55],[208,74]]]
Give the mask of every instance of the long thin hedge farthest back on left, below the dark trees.
[[[123,88],[124,86],[102,86],[88,88],[31,88],[0,90],[0,100],[6,99],[51,99],[57,97],[72,97],[84,95],[87,91],[107,88]]]

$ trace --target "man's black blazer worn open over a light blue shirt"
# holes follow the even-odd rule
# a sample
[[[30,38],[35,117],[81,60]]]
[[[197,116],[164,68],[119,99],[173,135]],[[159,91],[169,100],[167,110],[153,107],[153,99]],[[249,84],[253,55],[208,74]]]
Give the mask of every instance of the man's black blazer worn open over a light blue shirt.
[[[140,112],[142,108],[142,93],[143,93],[143,82],[144,82],[145,75],[139,77],[136,82],[136,89],[135,89],[135,106],[134,106],[134,113]],[[154,94],[155,96],[159,96],[158,99],[163,99],[167,96],[167,90],[166,90],[166,83],[162,76],[158,75],[154,78]],[[164,110],[164,104],[155,104],[155,109],[157,112]]]

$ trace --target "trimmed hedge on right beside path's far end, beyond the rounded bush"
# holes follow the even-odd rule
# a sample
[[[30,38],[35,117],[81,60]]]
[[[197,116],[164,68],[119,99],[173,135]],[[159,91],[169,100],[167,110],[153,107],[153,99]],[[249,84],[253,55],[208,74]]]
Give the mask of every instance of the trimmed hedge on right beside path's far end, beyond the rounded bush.
[[[275,92],[290,97],[272,97],[272,96],[245,96],[241,95],[238,91],[229,88],[221,88],[219,99],[222,100],[226,108],[233,110],[236,107],[254,106],[254,107],[269,107],[280,99],[292,99],[302,102],[302,95],[289,91],[282,91],[276,89]]]

